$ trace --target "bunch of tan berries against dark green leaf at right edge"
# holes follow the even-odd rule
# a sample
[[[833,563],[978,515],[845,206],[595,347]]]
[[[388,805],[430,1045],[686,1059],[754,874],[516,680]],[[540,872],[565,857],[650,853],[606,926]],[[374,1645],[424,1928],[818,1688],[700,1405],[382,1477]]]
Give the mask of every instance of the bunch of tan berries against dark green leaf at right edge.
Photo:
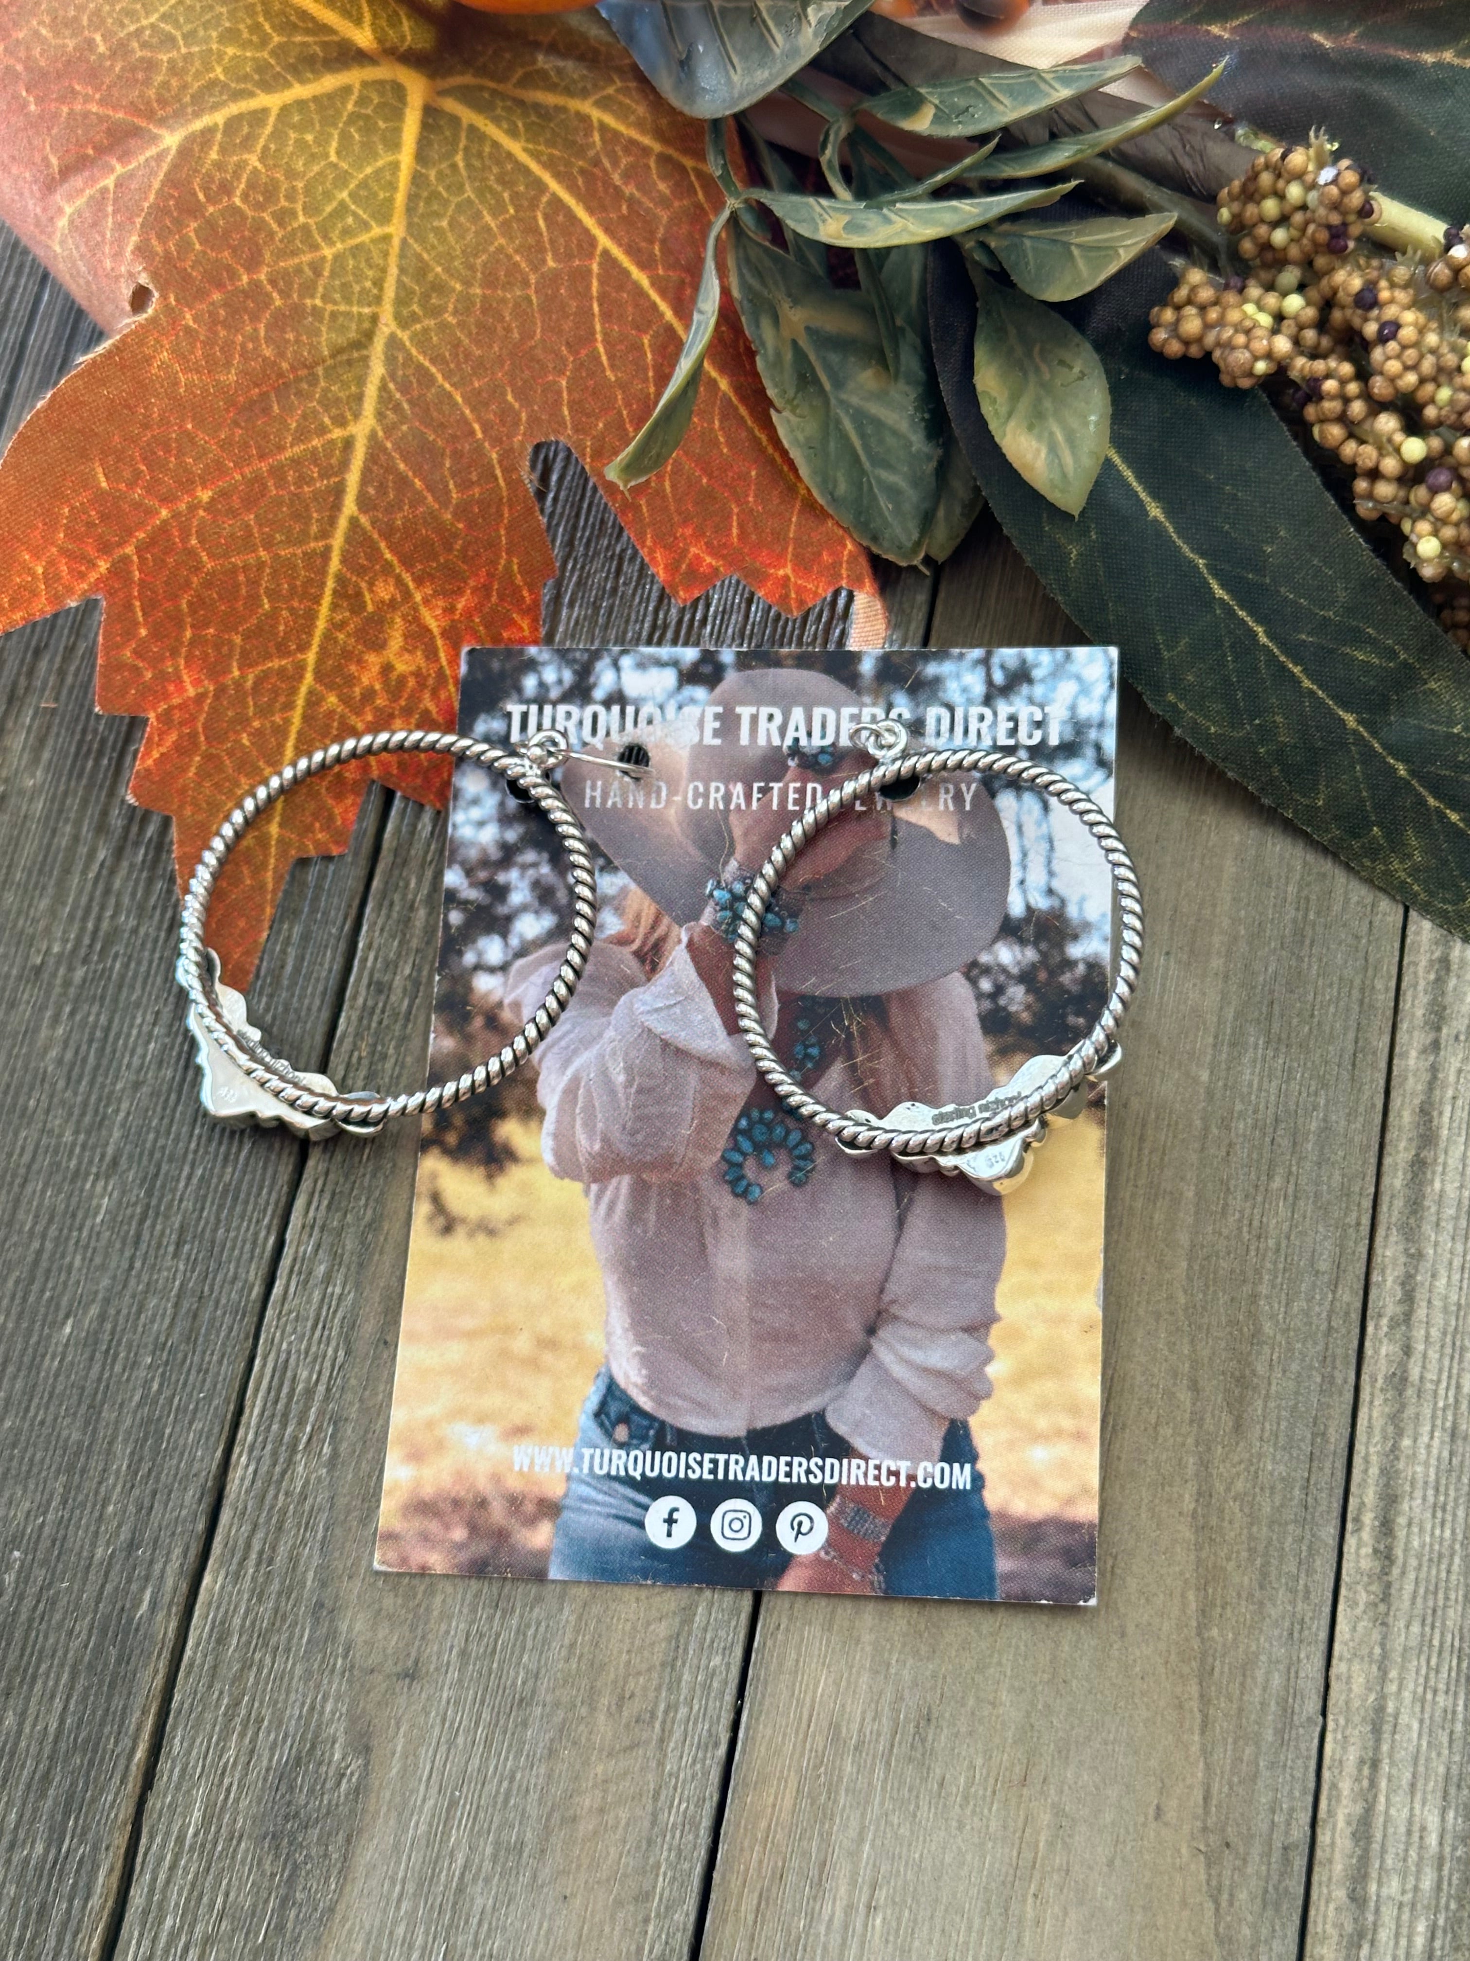
[[[1241,218],[1262,212],[1262,182],[1303,182],[1286,171],[1307,155],[1264,157],[1262,169],[1243,178],[1256,196]],[[1360,175],[1339,169],[1339,188],[1343,176],[1352,178],[1348,196],[1358,198]],[[1235,196],[1235,186],[1221,192],[1231,224]],[[1252,226],[1268,222],[1268,202],[1264,212]],[[1370,222],[1362,202],[1352,216],[1358,227]],[[1470,243],[1452,229],[1443,257],[1413,265],[1370,257],[1356,233],[1343,247],[1335,235],[1317,249],[1321,229],[1307,224],[1278,245],[1276,227],[1247,277],[1219,280],[1186,267],[1151,314],[1149,343],[1170,361],[1211,355],[1231,388],[1290,380],[1282,406],[1352,471],[1358,518],[1403,533],[1407,565],[1435,584],[1441,624],[1470,647]],[[1258,243],[1254,229],[1245,231],[1241,249],[1245,243]],[[1290,259],[1294,249],[1309,255],[1305,278],[1299,269],[1307,261]],[[1266,265],[1266,251],[1278,255],[1274,265]]]

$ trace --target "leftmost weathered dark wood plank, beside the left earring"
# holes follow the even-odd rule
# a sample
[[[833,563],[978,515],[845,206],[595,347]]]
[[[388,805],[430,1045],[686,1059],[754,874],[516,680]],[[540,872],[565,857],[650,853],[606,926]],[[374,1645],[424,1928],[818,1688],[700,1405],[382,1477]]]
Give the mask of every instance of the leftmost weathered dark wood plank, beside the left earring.
[[[94,329],[14,243],[0,318],[14,424]],[[125,802],[139,728],[94,714],[94,643],[92,608],[0,643],[0,1926],[25,1961],[104,1949],[302,1171],[200,1116],[169,826]],[[302,1059],[363,843],[294,875],[263,965]]]

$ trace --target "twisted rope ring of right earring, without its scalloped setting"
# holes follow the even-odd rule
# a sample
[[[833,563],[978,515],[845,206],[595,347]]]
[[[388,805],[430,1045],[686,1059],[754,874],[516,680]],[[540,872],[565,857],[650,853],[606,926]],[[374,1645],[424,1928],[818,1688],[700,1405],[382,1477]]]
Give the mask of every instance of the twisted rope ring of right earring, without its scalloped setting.
[[[978,1145],[1000,1143],[1002,1137],[1013,1137],[1017,1131],[1029,1130],[1049,1110],[1066,1102],[1080,1082],[1100,1075],[1107,1067],[1109,1059],[1117,1051],[1117,1028],[1129,1000],[1133,998],[1133,988],[1139,979],[1139,959],[1143,955],[1143,892],[1139,890],[1139,875],[1133,869],[1133,859],[1129,857],[1127,847],[1113,830],[1109,818],[1098,804],[1094,804],[1086,790],[1078,790],[1078,786],[1068,782],[1066,777],[1058,777],[1056,771],[1043,769],[1041,763],[1029,763],[1004,749],[921,749],[906,755],[906,743],[907,733],[902,724],[876,724],[868,731],[866,745],[872,755],[880,757],[880,761],[872,769],[864,769],[857,777],[849,777],[839,790],[833,790],[831,796],[825,796],[819,804],[813,804],[811,810],[798,818],[760,871],[753,877],[751,892],[745,900],[745,912],[735,928],[735,1018],[741,1033],[745,1035],[747,1047],[755,1057],[757,1069],[776,1096],[780,1096],[794,1116],[806,1118],[819,1130],[825,1130],[827,1135],[835,1137],[843,1149],[868,1151],[874,1155],[892,1151],[894,1157],[953,1157],[974,1151]],[[794,1082],[776,1061],[776,1051],[766,1039],[766,1031],[760,1022],[760,1004],[757,996],[755,963],[757,953],[760,951],[760,926],[764,922],[766,908],[802,851],[806,851],[817,831],[825,830],[835,818],[851,810],[853,804],[864,796],[882,792],[896,782],[911,782],[917,788],[927,777],[955,775],[960,771],[970,771],[980,777],[1000,777],[1002,780],[1013,782],[1021,788],[1041,790],[1047,796],[1054,796],[1058,804],[1086,824],[1107,859],[1113,890],[1117,892],[1121,922],[1117,975],[1103,1012],[1098,1016],[1090,1033],[1078,1041],[1076,1047],[1068,1049],[1060,1065],[1027,1096],[996,1096],[988,1098],[984,1106],[955,1104],[947,1110],[935,1112],[937,1118],[955,1118],[955,1122],[947,1128],[892,1130],[884,1124],[872,1122],[864,1112],[851,1112],[843,1116],[839,1110],[829,1110],[827,1104],[817,1102],[815,1096],[809,1096],[798,1082]]]

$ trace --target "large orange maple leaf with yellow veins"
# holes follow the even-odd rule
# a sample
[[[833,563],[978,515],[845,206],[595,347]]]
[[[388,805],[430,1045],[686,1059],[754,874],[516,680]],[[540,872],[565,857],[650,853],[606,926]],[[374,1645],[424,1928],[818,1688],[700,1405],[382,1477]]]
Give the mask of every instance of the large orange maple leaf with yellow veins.
[[[594,14],[396,0],[10,0],[0,216],[106,326],[0,463],[0,628],[102,594],[98,706],[186,875],[255,780],[453,728],[459,653],[537,635],[531,443],[613,457],[682,341],[719,206],[702,126]],[[690,600],[872,590],[721,320],[694,427],[619,514]],[[443,788],[423,765],[380,775]],[[212,916],[243,979],[361,779],[257,826]],[[274,816],[274,814],[272,814]]]

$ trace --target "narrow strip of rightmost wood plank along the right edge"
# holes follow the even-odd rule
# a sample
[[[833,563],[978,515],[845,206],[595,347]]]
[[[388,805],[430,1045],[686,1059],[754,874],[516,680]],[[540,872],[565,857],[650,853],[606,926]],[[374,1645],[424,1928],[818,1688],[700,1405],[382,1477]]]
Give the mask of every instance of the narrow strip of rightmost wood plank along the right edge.
[[[1470,947],[1409,920],[1307,1961],[1470,1955]]]

